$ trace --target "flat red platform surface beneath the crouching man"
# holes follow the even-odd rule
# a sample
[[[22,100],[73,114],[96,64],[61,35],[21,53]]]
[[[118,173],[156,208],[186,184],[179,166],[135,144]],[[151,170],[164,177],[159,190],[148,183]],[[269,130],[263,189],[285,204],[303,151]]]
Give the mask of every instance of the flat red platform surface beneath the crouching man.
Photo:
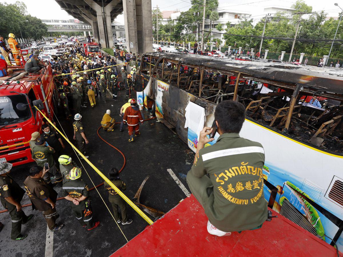
[[[337,256],[332,246],[273,213],[277,218],[261,229],[213,236],[191,195],[111,256]]]

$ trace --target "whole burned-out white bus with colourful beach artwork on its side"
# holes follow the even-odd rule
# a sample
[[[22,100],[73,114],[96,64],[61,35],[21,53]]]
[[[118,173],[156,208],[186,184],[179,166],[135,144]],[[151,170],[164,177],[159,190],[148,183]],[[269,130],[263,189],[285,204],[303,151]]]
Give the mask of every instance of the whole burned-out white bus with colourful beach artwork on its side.
[[[138,102],[194,152],[199,127],[212,126],[216,105],[243,103],[240,136],[264,147],[263,178],[277,188],[273,209],[343,247],[340,69],[154,52],[143,55],[138,77]],[[264,188],[266,199],[271,193]]]

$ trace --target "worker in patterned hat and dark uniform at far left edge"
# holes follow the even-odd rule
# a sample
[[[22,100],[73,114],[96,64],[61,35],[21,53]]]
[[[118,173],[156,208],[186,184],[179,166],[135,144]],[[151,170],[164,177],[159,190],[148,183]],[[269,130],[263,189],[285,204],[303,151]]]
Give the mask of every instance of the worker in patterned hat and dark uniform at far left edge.
[[[33,217],[26,216],[22,210],[20,201],[23,199],[25,190],[21,188],[10,176],[12,163],[0,163],[0,200],[2,206],[8,210],[12,221],[12,240],[23,240],[27,235],[22,235],[21,225]]]

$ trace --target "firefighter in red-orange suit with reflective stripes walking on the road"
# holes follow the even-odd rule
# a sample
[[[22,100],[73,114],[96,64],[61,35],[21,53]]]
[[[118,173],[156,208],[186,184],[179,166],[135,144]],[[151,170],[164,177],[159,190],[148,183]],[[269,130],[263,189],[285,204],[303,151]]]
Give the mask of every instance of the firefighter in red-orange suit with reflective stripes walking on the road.
[[[134,136],[139,136],[141,134],[139,132],[139,122],[143,124],[143,117],[141,111],[139,110],[139,107],[136,105],[136,100],[131,99],[130,104],[131,106],[129,106],[125,110],[123,122],[128,124],[130,136],[129,142],[132,142],[133,130]]]

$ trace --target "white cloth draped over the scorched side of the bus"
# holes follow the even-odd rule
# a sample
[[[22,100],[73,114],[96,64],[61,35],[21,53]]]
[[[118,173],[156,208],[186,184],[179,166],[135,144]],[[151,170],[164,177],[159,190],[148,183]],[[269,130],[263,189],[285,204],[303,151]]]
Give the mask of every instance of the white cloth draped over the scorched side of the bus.
[[[202,129],[204,128],[205,108],[196,105],[193,102],[189,102],[185,110],[185,128],[188,127],[189,129],[197,133],[199,138],[200,131],[202,131]]]

